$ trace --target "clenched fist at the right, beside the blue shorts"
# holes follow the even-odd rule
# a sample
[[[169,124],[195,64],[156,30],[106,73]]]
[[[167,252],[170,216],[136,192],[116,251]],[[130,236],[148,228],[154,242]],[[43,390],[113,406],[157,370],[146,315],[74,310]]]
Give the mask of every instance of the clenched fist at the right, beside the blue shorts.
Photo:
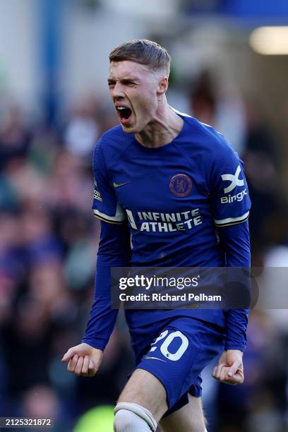
[[[227,349],[222,352],[218,366],[215,366],[212,377],[225,384],[242,384],[244,382],[243,352],[239,349]]]

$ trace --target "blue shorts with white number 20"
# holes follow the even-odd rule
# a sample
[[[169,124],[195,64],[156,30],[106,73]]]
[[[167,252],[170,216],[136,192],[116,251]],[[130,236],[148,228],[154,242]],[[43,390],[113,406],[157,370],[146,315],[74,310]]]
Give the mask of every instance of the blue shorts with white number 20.
[[[203,368],[224,350],[225,330],[196,318],[171,318],[131,330],[136,368],[161,381],[167,392],[165,416],[202,394]]]

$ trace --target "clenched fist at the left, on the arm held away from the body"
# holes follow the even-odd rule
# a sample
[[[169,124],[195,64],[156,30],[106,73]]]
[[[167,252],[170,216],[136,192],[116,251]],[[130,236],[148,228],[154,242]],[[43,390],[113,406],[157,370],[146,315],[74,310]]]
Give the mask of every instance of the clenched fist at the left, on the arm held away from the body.
[[[100,367],[102,357],[101,349],[83,343],[69,348],[61,361],[68,361],[68,372],[77,376],[94,376]]]

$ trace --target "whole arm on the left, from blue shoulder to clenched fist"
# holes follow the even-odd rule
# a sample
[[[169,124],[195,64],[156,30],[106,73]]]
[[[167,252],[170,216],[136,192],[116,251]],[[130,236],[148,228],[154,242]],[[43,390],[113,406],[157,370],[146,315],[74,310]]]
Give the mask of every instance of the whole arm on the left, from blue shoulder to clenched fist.
[[[97,372],[116,321],[117,311],[111,308],[111,267],[128,266],[131,256],[126,215],[117,203],[102,146],[100,139],[93,155],[95,190],[92,210],[102,221],[94,301],[82,343],[68,349],[62,359],[68,361],[69,372],[84,376]]]

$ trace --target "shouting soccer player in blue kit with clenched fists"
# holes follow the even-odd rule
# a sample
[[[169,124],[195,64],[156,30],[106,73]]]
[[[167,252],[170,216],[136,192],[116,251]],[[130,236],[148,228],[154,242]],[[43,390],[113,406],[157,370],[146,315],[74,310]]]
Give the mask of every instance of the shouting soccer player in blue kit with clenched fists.
[[[112,266],[248,267],[250,200],[243,164],[220,133],[167,103],[170,56],[148,40],[109,55],[120,125],[93,156],[92,208],[101,222],[95,299],[81,344],[62,361],[93,376],[114,328]],[[136,370],[114,410],[116,432],[204,432],[203,368],[244,381],[246,309],[126,310]]]

